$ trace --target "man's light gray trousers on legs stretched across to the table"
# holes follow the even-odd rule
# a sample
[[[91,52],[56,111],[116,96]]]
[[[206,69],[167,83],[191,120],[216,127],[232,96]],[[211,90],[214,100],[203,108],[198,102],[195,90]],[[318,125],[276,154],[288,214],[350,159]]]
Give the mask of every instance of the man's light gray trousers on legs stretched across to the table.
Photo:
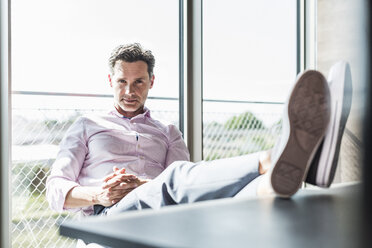
[[[259,153],[198,163],[177,161],[100,214],[254,196],[260,179],[258,165]]]

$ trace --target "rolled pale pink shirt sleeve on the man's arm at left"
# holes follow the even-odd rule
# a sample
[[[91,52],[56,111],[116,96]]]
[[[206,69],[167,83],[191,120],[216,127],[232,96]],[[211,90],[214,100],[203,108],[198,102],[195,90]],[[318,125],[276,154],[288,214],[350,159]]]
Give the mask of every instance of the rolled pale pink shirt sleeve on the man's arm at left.
[[[66,210],[63,207],[66,195],[72,188],[79,186],[78,176],[87,151],[84,118],[80,117],[62,139],[60,150],[46,182],[46,197],[53,210],[58,212]]]

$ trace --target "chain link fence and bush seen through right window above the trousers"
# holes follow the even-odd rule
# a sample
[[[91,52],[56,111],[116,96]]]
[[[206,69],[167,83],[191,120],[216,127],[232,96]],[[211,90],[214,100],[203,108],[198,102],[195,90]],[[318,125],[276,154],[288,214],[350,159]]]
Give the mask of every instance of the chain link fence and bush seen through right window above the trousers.
[[[277,119],[269,126],[265,117]],[[204,113],[203,158],[214,160],[272,148],[280,133],[280,115],[275,113]],[[224,122],[217,122],[224,120]]]

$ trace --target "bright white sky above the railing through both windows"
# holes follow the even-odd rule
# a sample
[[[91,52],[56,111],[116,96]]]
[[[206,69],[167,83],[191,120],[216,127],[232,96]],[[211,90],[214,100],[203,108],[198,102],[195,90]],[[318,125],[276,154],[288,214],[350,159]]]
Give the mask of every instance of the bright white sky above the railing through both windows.
[[[284,101],[296,1],[203,2],[204,97]],[[133,41],[156,57],[150,96],[178,97],[178,1],[13,0],[13,90],[110,94],[107,58]]]

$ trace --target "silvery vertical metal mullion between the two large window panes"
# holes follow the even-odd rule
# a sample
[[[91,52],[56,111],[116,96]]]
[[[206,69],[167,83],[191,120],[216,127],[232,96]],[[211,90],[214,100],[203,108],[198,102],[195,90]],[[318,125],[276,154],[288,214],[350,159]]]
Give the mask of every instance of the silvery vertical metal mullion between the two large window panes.
[[[191,161],[203,159],[203,30],[202,0],[186,0],[186,143]]]

